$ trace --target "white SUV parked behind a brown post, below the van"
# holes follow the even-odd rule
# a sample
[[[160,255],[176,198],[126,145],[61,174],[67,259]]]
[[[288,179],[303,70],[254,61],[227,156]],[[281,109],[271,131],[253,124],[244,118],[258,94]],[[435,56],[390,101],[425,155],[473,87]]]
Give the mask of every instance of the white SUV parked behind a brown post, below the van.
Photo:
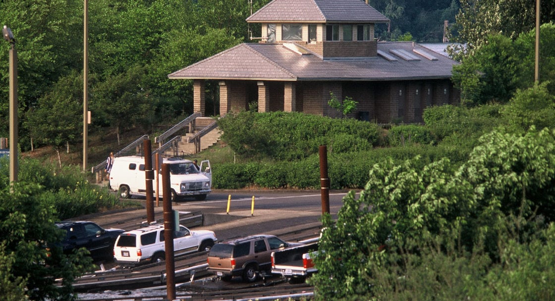
[[[173,237],[175,255],[208,251],[217,241],[213,231],[191,231],[182,225],[179,231],[174,231]],[[123,266],[163,261],[164,225],[150,225],[119,234],[114,244],[114,259]]]

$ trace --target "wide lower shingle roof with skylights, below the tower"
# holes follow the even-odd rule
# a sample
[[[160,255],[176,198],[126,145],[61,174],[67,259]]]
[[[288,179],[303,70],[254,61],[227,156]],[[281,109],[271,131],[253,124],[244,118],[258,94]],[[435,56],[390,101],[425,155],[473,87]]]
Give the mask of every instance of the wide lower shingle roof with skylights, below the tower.
[[[360,1],[360,0],[356,0]],[[411,80],[451,78],[455,60],[413,42],[379,42],[376,57],[322,59],[284,44],[243,43],[168,75],[170,79]],[[404,50],[417,58],[403,59]],[[393,60],[391,59],[393,58]]]

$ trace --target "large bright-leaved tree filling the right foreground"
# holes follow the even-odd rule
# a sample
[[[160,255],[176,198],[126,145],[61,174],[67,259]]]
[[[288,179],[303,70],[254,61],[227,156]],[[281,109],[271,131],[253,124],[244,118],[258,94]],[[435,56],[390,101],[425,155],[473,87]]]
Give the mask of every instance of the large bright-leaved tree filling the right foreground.
[[[432,254],[443,254],[443,263],[454,256],[451,267],[465,266],[461,261],[471,260],[465,256],[474,251],[484,254],[460,279],[482,277],[492,268],[489,261],[503,264],[508,260],[504,256],[510,257],[503,249],[508,244],[498,243],[504,233],[512,233],[519,243],[535,243],[533,233],[555,220],[553,151],[555,131],[532,130],[519,136],[498,130],[484,135],[458,169],[445,159],[423,164],[418,157],[401,165],[391,161],[375,165],[360,197],[350,192],[344,198],[337,222],[330,216],[323,219],[326,228],[319,245],[323,252],[315,258],[319,273],[311,279],[317,298],[387,300],[411,289],[449,292],[453,287],[443,280],[452,279],[453,284],[457,279],[450,276],[451,268],[438,266],[442,262],[422,265],[433,276],[426,279],[441,280],[431,287],[399,283],[415,277],[410,271],[415,261],[417,266],[431,262]],[[399,268],[387,269],[390,263]],[[390,286],[376,286],[387,283]],[[431,295],[436,294],[420,296]],[[516,293],[508,295],[521,299]]]

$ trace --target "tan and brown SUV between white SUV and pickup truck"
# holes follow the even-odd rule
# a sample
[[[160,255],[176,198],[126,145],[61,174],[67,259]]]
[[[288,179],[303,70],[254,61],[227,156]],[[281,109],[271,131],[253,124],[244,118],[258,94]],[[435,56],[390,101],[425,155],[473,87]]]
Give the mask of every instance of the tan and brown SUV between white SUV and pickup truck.
[[[260,272],[271,270],[273,251],[301,244],[266,234],[216,243],[208,253],[208,271],[224,281],[241,276],[243,280],[253,282]]]

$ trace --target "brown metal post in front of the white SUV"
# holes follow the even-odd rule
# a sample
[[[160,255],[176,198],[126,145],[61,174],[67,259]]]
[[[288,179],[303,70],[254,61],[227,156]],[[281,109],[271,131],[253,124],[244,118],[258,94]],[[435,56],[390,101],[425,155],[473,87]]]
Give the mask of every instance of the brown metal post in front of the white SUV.
[[[164,246],[166,252],[166,290],[168,300],[175,300],[175,262],[173,251],[174,221],[171,210],[170,166],[162,164],[162,198],[164,203]]]

